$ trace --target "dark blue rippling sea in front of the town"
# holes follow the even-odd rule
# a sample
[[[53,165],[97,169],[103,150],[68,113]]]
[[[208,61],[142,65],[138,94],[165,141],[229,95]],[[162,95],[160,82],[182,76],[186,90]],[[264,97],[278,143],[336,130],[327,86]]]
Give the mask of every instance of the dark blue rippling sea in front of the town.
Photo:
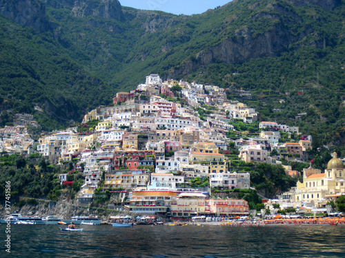
[[[0,225],[0,257],[345,257],[345,226]]]

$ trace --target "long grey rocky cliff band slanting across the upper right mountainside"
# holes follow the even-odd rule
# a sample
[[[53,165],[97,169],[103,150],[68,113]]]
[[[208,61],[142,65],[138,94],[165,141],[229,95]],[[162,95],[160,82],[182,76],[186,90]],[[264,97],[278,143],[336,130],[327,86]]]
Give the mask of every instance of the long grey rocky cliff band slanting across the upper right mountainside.
[[[331,10],[339,4],[339,1],[290,0],[290,3],[295,6],[315,5]],[[260,6],[260,3],[253,5],[252,8],[255,9],[258,6]],[[286,17],[289,17],[289,19],[286,19]],[[250,19],[261,23],[274,22],[269,30],[261,34],[255,33],[247,25],[244,25],[235,31],[234,36],[223,39],[220,43],[213,45],[208,50],[201,50],[192,60],[185,61],[181,65],[171,69],[168,77],[177,78],[181,75],[190,74],[212,63],[244,63],[250,60],[250,58],[277,56],[286,50],[288,45],[303,39],[313,32],[312,28],[306,28],[306,30],[298,34],[290,31],[284,23],[301,23],[303,19],[295,12],[289,10],[289,8],[281,6],[278,3],[269,3],[264,11],[253,15]],[[313,46],[322,48],[324,46],[323,42],[324,39],[320,38],[317,41],[313,41]]]

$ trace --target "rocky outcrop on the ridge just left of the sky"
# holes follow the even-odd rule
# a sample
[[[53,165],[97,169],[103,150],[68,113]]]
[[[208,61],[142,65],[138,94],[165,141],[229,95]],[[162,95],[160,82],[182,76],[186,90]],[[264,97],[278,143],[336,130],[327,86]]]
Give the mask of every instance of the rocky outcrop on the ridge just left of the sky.
[[[121,21],[123,18],[121,4],[117,0],[75,1],[71,14],[75,17],[93,15],[106,19]]]

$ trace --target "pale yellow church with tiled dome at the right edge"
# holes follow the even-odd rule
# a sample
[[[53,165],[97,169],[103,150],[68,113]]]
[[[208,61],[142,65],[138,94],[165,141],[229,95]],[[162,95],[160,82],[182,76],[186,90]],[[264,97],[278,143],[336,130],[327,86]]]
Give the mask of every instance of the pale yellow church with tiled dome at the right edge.
[[[303,183],[297,182],[295,202],[322,205],[328,197],[341,194],[345,194],[345,169],[337,158],[337,153],[333,153],[333,158],[328,162],[324,173],[304,173]]]

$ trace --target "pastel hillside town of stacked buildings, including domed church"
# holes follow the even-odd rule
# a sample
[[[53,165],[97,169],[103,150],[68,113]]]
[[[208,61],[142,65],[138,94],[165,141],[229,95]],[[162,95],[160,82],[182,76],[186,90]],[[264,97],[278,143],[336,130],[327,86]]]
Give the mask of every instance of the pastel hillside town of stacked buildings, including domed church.
[[[78,127],[46,133],[38,142],[28,134],[28,126],[37,127],[32,116],[21,114],[18,120],[0,129],[0,151],[40,153],[53,164],[73,162],[75,168],[60,174],[59,183],[72,184],[68,174],[81,171],[85,181],[77,196],[80,204],[89,204],[98,193],[119,193],[109,208],[170,217],[249,215],[246,200],[211,197],[215,189],[254,190],[250,173],[232,166],[230,145],[243,162],[282,164],[282,159],[308,161],[313,142],[298,127],[261,121],[255,109],[228,100],[225,89],[163,82],[158,74],[146,76],[135,90],[118,92],[113,105],[90,111]],[[234,120],[258,123],[257,134],[230,139],[229,133],[242,136],[230,124]],[[289,142],[282,142],[286,138]],[[329,213],[327,202],[345,193],[343,162],[334,153],[326,171],[304,169],[303,182],[295,188],[277,199],[262,197],[266,208],[275,211],[279,204],[301,213]],[[290,177],[300,176],[290,166],[284,169]],[[196,179],[204,184],[193,186],[190,182]]]

